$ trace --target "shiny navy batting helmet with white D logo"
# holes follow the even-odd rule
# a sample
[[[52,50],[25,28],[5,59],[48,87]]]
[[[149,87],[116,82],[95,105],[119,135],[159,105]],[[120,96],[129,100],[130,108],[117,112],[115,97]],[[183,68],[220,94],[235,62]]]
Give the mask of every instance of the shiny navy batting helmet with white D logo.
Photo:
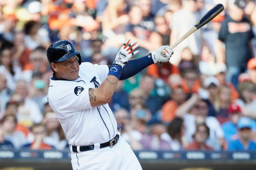
[[[80,51],[76,51],[76,47],[68,40],[59,40],[52,43],[47,49],[47,58],[49,63],[65,61],[74,55],[77,55],[79,65],[82,63]]]

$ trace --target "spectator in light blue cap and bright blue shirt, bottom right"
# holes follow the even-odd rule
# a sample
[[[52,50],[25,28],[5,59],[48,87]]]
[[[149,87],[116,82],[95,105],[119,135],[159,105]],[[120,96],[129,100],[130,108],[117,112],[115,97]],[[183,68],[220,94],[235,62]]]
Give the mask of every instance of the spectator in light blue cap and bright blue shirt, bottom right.
[[[239,138],[228,142],[227,150],[256,150],[252,138],[252,120],[242,117],[237,123]]]

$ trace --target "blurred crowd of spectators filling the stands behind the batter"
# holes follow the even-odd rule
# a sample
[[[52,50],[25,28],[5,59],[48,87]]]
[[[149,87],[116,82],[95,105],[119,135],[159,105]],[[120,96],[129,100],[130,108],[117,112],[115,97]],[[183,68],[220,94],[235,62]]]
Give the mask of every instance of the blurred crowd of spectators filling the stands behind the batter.
[[[0,149],[68,148],[47,93],[48,46],[111,64],[172,45],[213,6],[224,11],[123,81],[109,103],[133,150],[256,150],[256,0],[0,0]]]

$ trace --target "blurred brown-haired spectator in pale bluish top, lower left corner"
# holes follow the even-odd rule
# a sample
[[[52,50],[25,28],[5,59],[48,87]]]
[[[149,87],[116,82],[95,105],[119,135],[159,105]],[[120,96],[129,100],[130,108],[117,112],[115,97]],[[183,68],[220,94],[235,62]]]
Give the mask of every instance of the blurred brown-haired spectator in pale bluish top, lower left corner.
[[[15,115],[4,115],[3,119],[4,138],[10,141],[15,149],[19,149],[26,143],[26,137],[21,131],[15,131],[17,118]]]

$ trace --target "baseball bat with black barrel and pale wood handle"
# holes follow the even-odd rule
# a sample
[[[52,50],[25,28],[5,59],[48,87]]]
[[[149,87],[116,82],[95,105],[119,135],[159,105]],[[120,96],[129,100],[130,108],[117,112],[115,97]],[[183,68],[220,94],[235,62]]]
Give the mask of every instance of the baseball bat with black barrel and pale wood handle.
[[[209,21],[211,21],[213,18],[215,18],[218,14],[220,14],[222,11],[224,10],[224,6],[222,4],[217,4],[214,7],[212,7],[212,9],[210,9],[208,12],[206,12],[206,14],[204,14],[204,16],[202,16],[202,18],[200,18],[200,20],[196,23],[196,25],[194,25],[193,27],[191,27],[184,35],[182,35],[182,37],[180,37],[173,45],[171,45],[170,47],[172,49],[174,49],[174,47],[176,47],[179,43],[181,43],[184,39],[186,39],[189,35],[191,35],[192,33],[194,33],[196,30],[198,30],[199,28],[201,28],[202,26],[204,26],[206,23],[208,23]],[[164,56],[166,53],[166,50],[162,51],[162,55]]]

